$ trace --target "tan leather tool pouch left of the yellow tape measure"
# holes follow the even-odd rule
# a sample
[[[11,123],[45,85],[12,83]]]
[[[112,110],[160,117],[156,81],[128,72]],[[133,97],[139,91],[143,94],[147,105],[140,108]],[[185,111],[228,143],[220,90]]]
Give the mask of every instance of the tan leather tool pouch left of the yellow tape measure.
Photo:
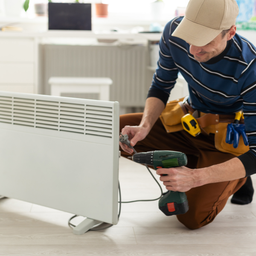
[[[168,133],[183,130],[181,118],[187,114],[186,108],[182,102],[183,99],[184,98],[168,102],[166,108],[160,115],[160,120]]]

